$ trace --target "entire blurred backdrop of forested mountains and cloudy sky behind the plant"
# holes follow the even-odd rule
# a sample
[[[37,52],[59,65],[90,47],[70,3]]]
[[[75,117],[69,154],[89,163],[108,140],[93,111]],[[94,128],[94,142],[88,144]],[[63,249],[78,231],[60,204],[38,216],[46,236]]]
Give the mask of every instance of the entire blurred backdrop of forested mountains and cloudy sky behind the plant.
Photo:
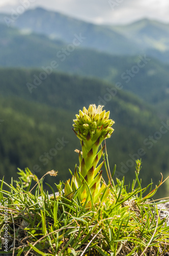
[[[166,178],[168,12],[167,0],[1,0],[0,179],[29,167],[39,178],[58,170],[45,177],[52,186],[66,181],[80,149],[73,119],[92,103],[115,121],[106,141],[115,180],[131,183],[136,159],[143,186]]]

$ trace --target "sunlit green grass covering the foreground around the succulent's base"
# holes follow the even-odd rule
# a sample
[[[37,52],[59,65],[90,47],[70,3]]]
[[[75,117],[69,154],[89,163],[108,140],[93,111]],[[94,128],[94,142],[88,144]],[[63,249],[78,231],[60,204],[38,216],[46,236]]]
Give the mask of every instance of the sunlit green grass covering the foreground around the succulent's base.
[[[105,158],[108,161],[107,153],[103,155]],[[138,179],[140,165],[137,160],[135,180],[130,187],[124,185],[124,178],[116,179],[115,184],[112,178],[116,166],[111,175],[105,161],[109,200],[92,203],[90,208],[86,207],[88,199],[92,199],[90,191],[90,198],[81,204],[79,190],[69,200],[62,193],[64,183],[60,182],[55,184],[58,196],[48,184],[53,193],[49,196],[43,189],[44,176],[38,180],[29,169],[19,170],[20,178],[15,185],[12,179],[11,184],[1,180],[0,254],[163,255],[169,251],[169,226],[166,218],[159,218],[157,203],[150,201],[162,181],[154,190],[152,184],[142,188]],[[47,174],[56,176],[57,172],[52,170]],[[8,249],[4,251],[6,235]]]

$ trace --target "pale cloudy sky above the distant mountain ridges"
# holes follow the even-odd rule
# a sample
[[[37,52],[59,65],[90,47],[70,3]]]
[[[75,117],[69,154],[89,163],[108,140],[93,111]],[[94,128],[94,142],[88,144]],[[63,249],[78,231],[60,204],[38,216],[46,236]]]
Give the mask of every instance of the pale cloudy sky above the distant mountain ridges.
[[[147,17],[169,23],[169,0],[0,0],[0,11],[12,13],[23,3],[98,24],[125,24]],[[27,7],[24,8],[25,10]]]

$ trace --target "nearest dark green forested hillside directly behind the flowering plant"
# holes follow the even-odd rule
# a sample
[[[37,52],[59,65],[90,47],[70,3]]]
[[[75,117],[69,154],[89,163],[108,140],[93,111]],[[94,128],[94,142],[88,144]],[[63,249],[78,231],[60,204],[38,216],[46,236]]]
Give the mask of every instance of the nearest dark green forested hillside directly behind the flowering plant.
[[[52,73],[30,94],[26,82],[32,82],[33,75],[38,76],[39,72],[0,69],[0,119],[4,120],[0,125],[0,168],[1,177],[5,175],[6,182],[11,177],[17,179],[17,167],[24,169],[27,166],[38,177],[54,168],[59,170],[59,180],[69,179],[68,169],[74,169],[78,159],[77,153],[73,151],[79,147],[74,133],[70,133],[74,112],[90,102],[98,104],[99,96],[104,97],[105,88],[112,88],[112,84],[97,79]],[[129,155],[136,154],[135,158],[139,158],[139,148],[143,148],[145,153],[140,156],[144,162],[143,184],[146,186],[151,179],[158,183],[160,173],[166,177],[169,168],[167,133],[156,140],[150,149],[144,143],[145,139],[160,129],[161,121],[155,110],[123,91],[106,102],[105,107],[115,120],[115,136],[107,142],[107,148],[111,156],[110,165],[117,164],[117,177],[122,179],[125,175],[127,183],[134,178],[135,160]],[[62,150],[57,150],[56,155],[49,154],[51,159],[45,157],[44,153],[55,148],[57,139],[62,140],[63,137],[69,143]],[[125,165],[130,159],[133,166],[122,172],[122,159]],[[45,179],[52,184],[50,177]],[[166,194],[166,188],[163,185],[159,189],[161,197]]]

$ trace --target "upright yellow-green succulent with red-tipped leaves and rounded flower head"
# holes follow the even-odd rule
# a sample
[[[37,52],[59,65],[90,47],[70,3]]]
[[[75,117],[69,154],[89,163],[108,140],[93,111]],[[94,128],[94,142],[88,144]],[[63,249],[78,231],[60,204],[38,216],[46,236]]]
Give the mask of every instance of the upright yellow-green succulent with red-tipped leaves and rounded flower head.
[[[88,200],[87,207],[99,202],[106,202],[109,196],[109,185],[102,183],[101,167],[99,160],[104,147],[101,143],[104,139],[110,138],[114,129],[112,124],[115,122],[109,119],[109,111],[103,111],[103,106],[91,104],[88,110],[84,107],[76,115],[74,121],[74,132],[80,140],[81,150],[79,153],[79,166],[75,166],[74,175],[65,183],[65,196],[73,198],[75,191],[78,190],[78,197],[83,204]]]

